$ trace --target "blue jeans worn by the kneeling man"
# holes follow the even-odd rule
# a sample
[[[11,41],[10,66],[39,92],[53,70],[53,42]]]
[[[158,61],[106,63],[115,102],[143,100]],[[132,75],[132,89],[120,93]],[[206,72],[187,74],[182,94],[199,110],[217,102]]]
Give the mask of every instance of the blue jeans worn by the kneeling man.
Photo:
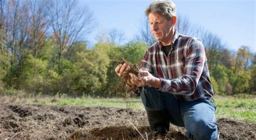
[[[214,104],[208,100],[178,101],[171,93],[153,87],[140,87],[140,97],[146,110],[166,109],[170,122],[185,127],[186,136],[196,139],[216,139],[218,125]]]

